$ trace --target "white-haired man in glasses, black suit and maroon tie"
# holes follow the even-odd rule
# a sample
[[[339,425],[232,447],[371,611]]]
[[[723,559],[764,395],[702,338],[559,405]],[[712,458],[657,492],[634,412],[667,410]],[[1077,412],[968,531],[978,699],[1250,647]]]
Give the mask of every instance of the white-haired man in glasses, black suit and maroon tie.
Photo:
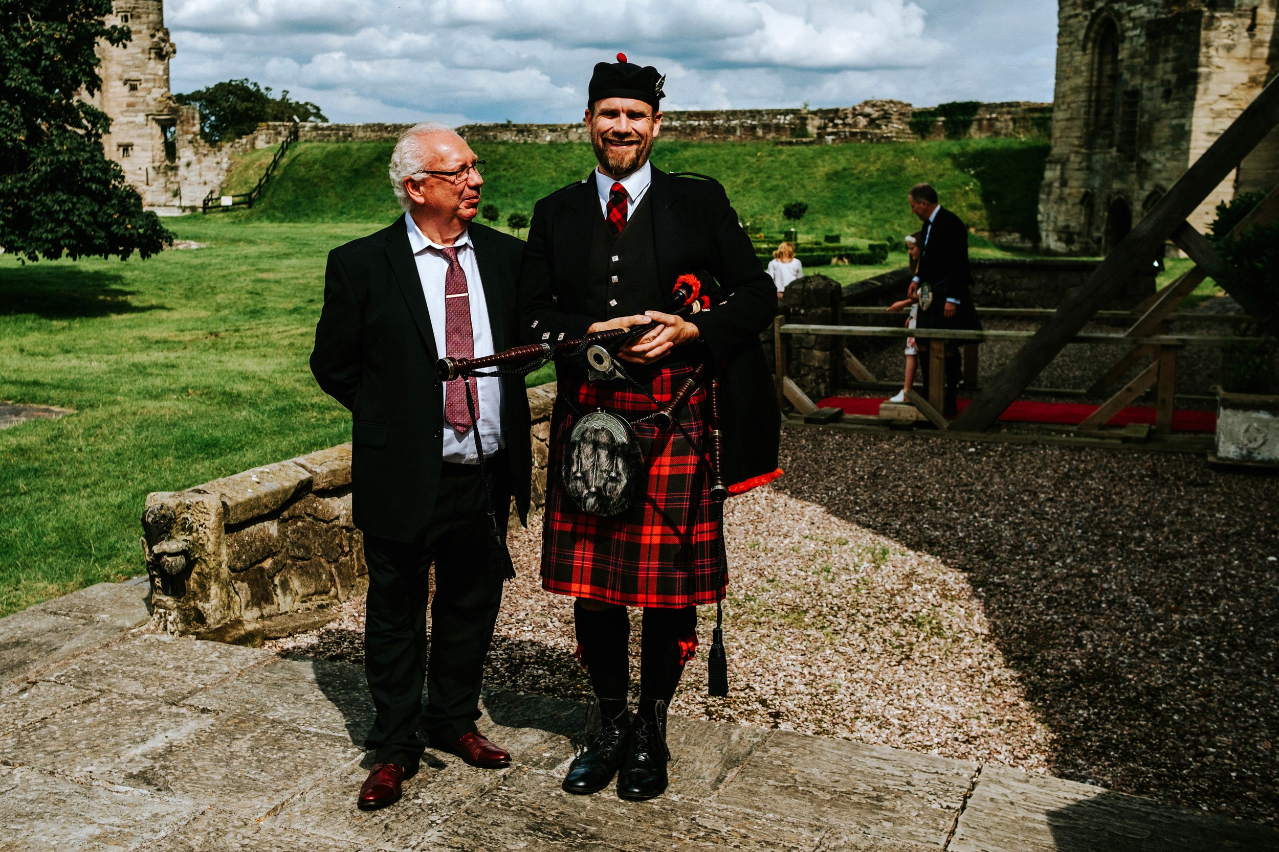
[[[390,162],[404,216],[334,249],[325,271],[311,370],[354,419],[352,499],[368,563],[365,668],[377,715],[362,810],[400,797],[422,756],[420,727],[471,765],[510,763],[475,724],[503,584],[482,554],[486,536],[505,536],[512,497],[522,519],[528,511],[528,399],[518,376],[468,379],[476,424],[466,384],[445,388],[434,370],[444,355],[490,355],[518,337],[523,243],[471,221],[482,170],[446,125],[407,130]]]

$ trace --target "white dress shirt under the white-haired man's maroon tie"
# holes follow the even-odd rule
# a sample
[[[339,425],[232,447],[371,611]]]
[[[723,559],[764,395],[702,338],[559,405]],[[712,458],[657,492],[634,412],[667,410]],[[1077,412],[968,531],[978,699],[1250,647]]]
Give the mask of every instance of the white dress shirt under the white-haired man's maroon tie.
[[[422,295],[426,296],[426,309],[431,316],[431,332],[435,335],[435,349],[444,358],[445,351],[445,304],[444,304],[444,276],[449,271],[449,262],[440,254],[440,249],[446,248],[439,243],[426,239],[422,230],[413,221],[413,217],[404,213],[404,224],[408,227],[408,244],[413,249],[413,261],[417,263],[417,277],[422,282]],[[471,231],[463,231],[453,247],[458,250],[458,263],[467,275],[467,294],[471,303],[471,333],[475,337],[475,356],[492,355],[492,327],[489,324],[489,304],[483,298],[483,284],[480,281],[480,264],[476,262],[476,249],[471,244]],[[440,406],[444,406],[444,395],[448,384],[440,390]],[[476,381],[476,390],[480,399],[476,400],[476,410],[480,415],[480,433],[483,439],[486,453],[498,452],[506,446],[501,436],[501,381],[498,378],[481,378]],[[462,464],[478,464],[475,442],[476,429],[458,434],[448,422],[444,423],[444,460]]]

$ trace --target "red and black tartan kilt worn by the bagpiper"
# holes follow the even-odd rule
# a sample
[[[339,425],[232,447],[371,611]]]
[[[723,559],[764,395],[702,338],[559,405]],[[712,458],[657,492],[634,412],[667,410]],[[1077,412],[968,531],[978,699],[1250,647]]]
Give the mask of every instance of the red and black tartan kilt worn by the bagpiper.
[[[654,397],[661,404],[669,401],[691,370],[654,370]],[[645,455],[642,493],[622,515],[588,515],[577,507],[560,480],[564,447],[576,422],[563,395],[572,393],[583,414],[604,409],[628,420],[652,413],[654,405],[624,381],[570,387],[565,378],[560,379],[559,392],[546,470],[542,588],[625,607],[679,608],[721,600],[726,577],[720,561],[719,506],[709,494],[706,465],[688,441],[678,429],[663,432],[652,423],[636,423]],[[698,388],[679,413],[697,446],[706,445],[710,432],[707,406],[706,391]]]

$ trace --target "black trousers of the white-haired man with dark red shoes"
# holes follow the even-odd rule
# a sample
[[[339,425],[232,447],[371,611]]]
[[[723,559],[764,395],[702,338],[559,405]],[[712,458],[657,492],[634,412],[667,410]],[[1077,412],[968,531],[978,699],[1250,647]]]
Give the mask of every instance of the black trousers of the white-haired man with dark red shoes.
[[[487,466],[498,528],[505,535],[510,506],[505,452],[491,456]],[[416,769],[425,746],[420,728],[436,742],[476,729],[483,662],[501,607],[501,580],[487,563],[487,512],[478,465],[444,462],[431,524],[420,540],[365,536],[365,673],[377,711],[365,747],[376,752],[377,763]],[[427,659],[425,622],[432,562]]]

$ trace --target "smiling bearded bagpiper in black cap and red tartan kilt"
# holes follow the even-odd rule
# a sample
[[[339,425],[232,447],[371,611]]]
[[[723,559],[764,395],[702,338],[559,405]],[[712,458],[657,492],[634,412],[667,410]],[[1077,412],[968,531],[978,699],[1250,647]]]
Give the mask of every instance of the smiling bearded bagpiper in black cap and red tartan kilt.
[[[758,337],[776,310],[775,287],[718,181],[648,164],[664,80],[622,54],[595,66],[586,124],[599,169],[537,202],[521,270],[526,344],[651,326],[616,353],[620,376],[556,361],[542,540],[542,586],[576,598],[579,659],[596,697],[563,787],[593,793],[616,775],[628,800],[666,788],[665,708],[697,649],[696,607],[724,597],[709,409],[730,424],[716,478],[764,482],[779,473],[780,411]],[[665,313],[688,273],[709,290],[700,303],[707,309]],[[654,413],[694,373],[703,379],[674,411],[674,428],[659,428]],[[631,455],[583,453],[578,432],[604,436],[592,447],[624,446]],[[610,465],[623,457],[638,457],[631,464],[641,478],[615,489],[625,499],[608,484],[609,476],[637,482],[614,475]],[[595,485],[583,491],[588,479]],[[642,608],[634,718],[627,607]],[[712,645],[712,662],[721,650]]]

